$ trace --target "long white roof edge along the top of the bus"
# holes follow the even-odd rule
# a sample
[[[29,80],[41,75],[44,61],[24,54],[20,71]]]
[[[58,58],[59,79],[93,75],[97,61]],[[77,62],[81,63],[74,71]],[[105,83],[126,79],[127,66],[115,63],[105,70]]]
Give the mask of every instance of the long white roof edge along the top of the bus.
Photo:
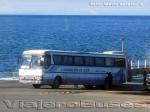
[[[111,51],[112,52],[112,51]],[[81,52],[81,51],[64,51],[64,50],[27,50],[23,52],[23,55],[43,55],[45,53],[53,53],[53,54],[76,54],[76,55],[101,55],[101,56],[118,56],[118,57],[125,57],[126,54],[124,53],[107,53],[107,52]]]

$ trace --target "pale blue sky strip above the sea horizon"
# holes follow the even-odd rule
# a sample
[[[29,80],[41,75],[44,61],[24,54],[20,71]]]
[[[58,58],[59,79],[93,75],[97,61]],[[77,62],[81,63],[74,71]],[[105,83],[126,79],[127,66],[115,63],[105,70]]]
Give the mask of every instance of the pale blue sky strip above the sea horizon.
[[[0,0],[1,15],[150,15],[150,0]]]

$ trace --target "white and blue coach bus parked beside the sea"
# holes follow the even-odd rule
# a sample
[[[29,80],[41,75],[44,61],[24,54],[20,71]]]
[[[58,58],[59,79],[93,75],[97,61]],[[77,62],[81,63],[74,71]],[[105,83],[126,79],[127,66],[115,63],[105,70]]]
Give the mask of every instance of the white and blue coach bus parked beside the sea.
[[[126,55],[119,52],[28,50],[22,54],[19,81],[30,83],[34,88],[42,85],[92,88],[108,85],[105,83],[108,72],[113,76],[113,85],[124,83],[128,75]]]

